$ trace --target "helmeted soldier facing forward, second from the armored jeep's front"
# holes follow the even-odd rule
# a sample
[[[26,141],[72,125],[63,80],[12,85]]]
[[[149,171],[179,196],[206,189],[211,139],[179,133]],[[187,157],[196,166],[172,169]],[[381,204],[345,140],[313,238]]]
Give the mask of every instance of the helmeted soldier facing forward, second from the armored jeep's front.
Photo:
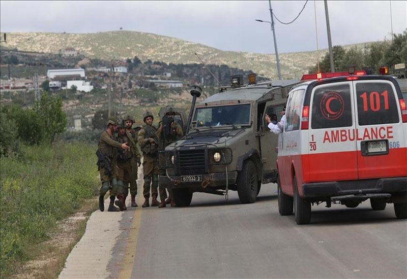
[[[144,112],[143,121],[144,125],[138,132],[137,143],[143,152],[143,195],[146,199],[142,207],[150,206],[150,184],[151,184],[151,195],[153,197],[151,201],[151,206],[158,206],[157,201],[158,195],[158,138],[157,138],[157,128],[153,125],[153,114],[149,111]],[[166,198],[166,195],[164,199]]]

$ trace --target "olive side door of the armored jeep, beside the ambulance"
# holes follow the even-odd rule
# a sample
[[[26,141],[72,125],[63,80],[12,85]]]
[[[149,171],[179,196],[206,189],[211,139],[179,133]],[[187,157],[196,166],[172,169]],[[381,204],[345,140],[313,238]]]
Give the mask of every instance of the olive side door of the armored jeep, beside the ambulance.
[[[268,114],[272,117],[273,123],[278,123],[281,120],[281,112],[284,108],[284,101],[275,102],[268,101],[263,112],[265,116]],[[277,169],[276,160],[277,160],[277,142],[278,134],[275,134],[270,131],[267,127],[267,122],[263,117],[262,122],[263,128],[260,131],[260,150],[261,150],[261,161],[263,162],[263,172],[265,177],[267,173],[272,172]]]

